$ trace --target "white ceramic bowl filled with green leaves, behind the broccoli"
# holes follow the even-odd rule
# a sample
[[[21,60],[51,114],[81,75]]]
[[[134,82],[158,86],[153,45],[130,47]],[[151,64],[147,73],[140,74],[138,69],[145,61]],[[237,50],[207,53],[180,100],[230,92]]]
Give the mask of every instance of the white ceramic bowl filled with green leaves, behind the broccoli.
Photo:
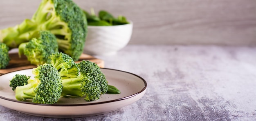
[[[132,36],[133,23],[115,26],[88,26],[83,53],[113,55],[125,47]]]

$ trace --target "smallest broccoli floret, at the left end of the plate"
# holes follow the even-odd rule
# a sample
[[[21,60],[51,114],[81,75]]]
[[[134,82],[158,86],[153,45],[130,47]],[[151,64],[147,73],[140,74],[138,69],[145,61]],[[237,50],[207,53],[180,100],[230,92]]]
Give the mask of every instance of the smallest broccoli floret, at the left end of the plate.
[[[16,87],[27,85],[27,80],[30,78],[30,76],[27,76],[25,74],[16,74],[13,76],[13,78],[10,80],[10,87],[14,91]]]

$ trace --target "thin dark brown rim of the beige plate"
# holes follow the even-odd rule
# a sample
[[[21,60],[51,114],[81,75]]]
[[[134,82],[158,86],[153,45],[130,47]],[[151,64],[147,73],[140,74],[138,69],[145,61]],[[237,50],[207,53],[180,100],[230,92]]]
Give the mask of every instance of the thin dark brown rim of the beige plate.
[[[33,69],[33,68],[29,68],[29,69]],[[126,71],[122,71],[122,70],[119,70],[119,69],[111,69],[111,68],[100,68],[100,69],[107,69],[107,70],[113,70],[113,71],[118,71],[118,72],[124,72],[124,73],[128,73],[128,74],[132,74],[133,76],[137,76],[138,78],[140,78],[143,82],[144,82],[144,87],[143,89],[141,89],[139,92],[135,93],[135,94],[132,94],[132,95],[129,95],[129,96],[126,96],[126,97],[123,97],[123,98],[119,98],[119,99],[114,99],[114,100],[110,100],[110,101],[103,101],[103,102],[95,102],[95,103],[80,103],[80,104],[40,104],[40,103],[32,103],[32,102],[25,102],[25,101],[18,101],[18,100],[14,100],[14,99],[9,99],[9,98],[6,98],[6,97],[3,97],[0,95],[0,99],[4,99],[4,100],[7,100],[7,101],[12,101],[12,102],[16,102],[16,103],[23,103],[23,104],[28,104],[28,105],[39,105],[39,106],[86,106],[86,105],[99,105],[99,104],[104,104],[104,103],[112,103],[112,102],[116,102],[116,101],[121,101],[121,100],[125,100],[125,99],[129,99],[133,96],[136,96],[142,92],[144,92],[147,88],[147,82],[144,78],[142,78],[141,76],[138,76],[137,74],[133,74],[131,72],[126,72]],[[13,71],[13,72],[18,72],[18,71],[22,71],[22,70],[28,70],[28,69],[20,69],[20,70],[16,70],[16,71]],[[8,72],[6,74],[9,74],[9,73],[13,73],[13,72]],[[1,76],[3,75],[6,75],[6,74],[2,74]]]

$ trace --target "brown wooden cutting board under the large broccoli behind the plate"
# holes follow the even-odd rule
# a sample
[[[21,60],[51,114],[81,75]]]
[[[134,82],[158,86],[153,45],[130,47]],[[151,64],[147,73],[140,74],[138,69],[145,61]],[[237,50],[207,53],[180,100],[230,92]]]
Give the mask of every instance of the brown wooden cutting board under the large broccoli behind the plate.
[[[27,61],[26,56],[21,56],[19,58],[18,53],[11,53],[9,54],[11,60],[9,62],[9,65],[5,69],[0,69],[0,75],[6,74],[9,72],[14,72],[22,69],[30,69],[36,67],[36,65],[31,65],[29,61]],[[76,63],[81,62],[82,60],[88,60],[96,63],[99,65],[99,67],[104,67],[104,61],[98,58],[95,58],[93,56],[90,56],[88,54],[82,54],[79,58],[79,61],[76,61]]]

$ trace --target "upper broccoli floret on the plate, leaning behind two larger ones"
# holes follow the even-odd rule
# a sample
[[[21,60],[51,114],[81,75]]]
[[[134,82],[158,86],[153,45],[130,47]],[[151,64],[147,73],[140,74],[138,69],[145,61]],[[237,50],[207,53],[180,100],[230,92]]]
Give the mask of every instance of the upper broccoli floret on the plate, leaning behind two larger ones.
[[[50,63],[53,67],[58,70],[61,75],[61,79],[75,78],[79,75],[79,68],[73,59],[67,54],[57,52],[49,55],[48,58],[51,60]]]

